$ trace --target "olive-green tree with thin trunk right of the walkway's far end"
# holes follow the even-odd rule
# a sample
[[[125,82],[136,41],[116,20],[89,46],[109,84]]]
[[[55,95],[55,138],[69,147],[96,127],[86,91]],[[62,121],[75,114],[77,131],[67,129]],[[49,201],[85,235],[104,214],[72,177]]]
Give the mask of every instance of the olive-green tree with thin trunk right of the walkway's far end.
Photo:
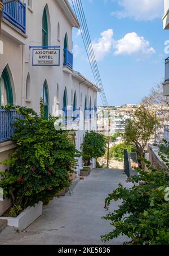
[[[144,149],[150,138],[152,138],[155,128],[155,115],[145,105],[134,112],[131,119],[125,123],[124,138],[127,143],[134,143],[137,154],[143,157]]]

